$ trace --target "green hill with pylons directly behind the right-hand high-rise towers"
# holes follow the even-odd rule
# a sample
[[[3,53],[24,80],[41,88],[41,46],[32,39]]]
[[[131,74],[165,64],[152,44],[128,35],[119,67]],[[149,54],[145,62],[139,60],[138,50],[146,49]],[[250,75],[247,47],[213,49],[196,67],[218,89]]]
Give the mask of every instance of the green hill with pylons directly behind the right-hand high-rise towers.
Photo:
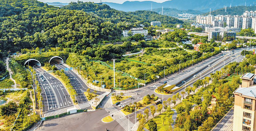
[[[245,11],[255,11],[256,6],[233,6],[231,8],[227,7],[227,12],[225,8],[220,8],[214,11],[211,11],[211,14],[216,15],[243,15]],[[202,13],[202,15],[209,15],[210,12]]]

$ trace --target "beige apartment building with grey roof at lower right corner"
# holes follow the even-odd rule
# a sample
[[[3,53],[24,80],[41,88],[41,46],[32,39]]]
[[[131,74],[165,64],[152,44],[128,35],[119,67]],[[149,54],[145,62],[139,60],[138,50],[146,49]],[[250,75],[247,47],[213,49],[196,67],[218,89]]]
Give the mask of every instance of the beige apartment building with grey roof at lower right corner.
[[[256,65],[254,67],[256,74]],[[233,131],[256,131],[255,74],[242,75],[240,77],[242,85],[233,92],[235,96]]]

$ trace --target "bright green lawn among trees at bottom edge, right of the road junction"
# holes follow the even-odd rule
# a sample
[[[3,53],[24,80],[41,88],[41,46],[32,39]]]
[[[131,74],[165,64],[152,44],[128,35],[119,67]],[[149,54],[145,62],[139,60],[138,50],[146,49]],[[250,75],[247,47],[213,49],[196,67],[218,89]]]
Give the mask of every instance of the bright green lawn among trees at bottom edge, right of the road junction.
[[[165,111],[165,112],[161,113],[161,115],[158,115],[158,116],[154,117],[154,119],[153,119],[157,124],[157,130],[158,131],[165,131],[169,127],[169,124],[168,124],[167,121],[165,121],[164,125],[163,125],[163,122],[161,120],[161,116],[166,115],[166,114],[167,114],[167,112]],[[173,114],[173,111],[171,111],[171,114]],[[148,122],[145,123],[145,128],[149,129]]]

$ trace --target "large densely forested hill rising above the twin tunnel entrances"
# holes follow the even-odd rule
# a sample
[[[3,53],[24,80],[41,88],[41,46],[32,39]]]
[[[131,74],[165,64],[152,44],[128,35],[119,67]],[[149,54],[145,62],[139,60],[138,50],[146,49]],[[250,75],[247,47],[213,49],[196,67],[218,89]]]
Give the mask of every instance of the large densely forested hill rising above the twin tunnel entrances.
[[[158,20],[164,25],[182,23],[155,12],[127,13],[106,4],[81,1],[63,8],[30,0],[0,0],[0,5],[0,49],[3,52],[35,47],[63,47],[78,52],[87,47],[96,48],[101,43],[119,42],[123,29],[139,24],[149,26],[151,21]]]

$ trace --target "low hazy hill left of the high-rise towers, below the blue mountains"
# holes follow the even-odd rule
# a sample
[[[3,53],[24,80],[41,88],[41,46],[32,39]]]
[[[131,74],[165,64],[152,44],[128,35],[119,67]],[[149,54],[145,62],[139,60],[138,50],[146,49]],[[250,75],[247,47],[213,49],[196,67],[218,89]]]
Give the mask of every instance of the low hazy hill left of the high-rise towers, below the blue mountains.
[[[194,14],[194,15],[199,15],[202,14],[204,12],[201,11],[195,11],[195,10],[178,10],[175,8],[163,8],[163,14],[167,15],[167,16],[173,16],[173,17],[178,17],[178,14],[182,14],[182,13],[189,13],[189,14]],[[150,10],[149,10],[150,11]],[[157,13],[160,12],[160,14],[162,14],[162,8],[156,8],[156,9],[152,9],[152,11],[155,11]]]

